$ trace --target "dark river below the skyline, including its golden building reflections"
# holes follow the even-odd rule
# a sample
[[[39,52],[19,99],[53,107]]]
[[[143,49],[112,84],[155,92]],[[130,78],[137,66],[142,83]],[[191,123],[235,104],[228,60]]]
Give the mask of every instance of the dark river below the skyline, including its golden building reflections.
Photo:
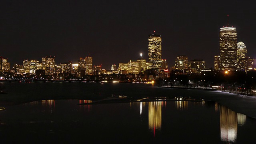
[[[256,142],[256,119],[203,99],[222,92],[83,82],[3,82],[2,90],[1,144]]]

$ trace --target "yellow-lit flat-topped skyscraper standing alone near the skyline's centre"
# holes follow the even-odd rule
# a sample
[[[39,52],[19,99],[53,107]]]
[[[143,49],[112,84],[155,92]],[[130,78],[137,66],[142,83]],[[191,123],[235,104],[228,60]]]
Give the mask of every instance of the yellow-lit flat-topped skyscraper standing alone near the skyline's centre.
[[[148,62],[150,69],[161,70],[162,38],[158,34],[148,35]]]

